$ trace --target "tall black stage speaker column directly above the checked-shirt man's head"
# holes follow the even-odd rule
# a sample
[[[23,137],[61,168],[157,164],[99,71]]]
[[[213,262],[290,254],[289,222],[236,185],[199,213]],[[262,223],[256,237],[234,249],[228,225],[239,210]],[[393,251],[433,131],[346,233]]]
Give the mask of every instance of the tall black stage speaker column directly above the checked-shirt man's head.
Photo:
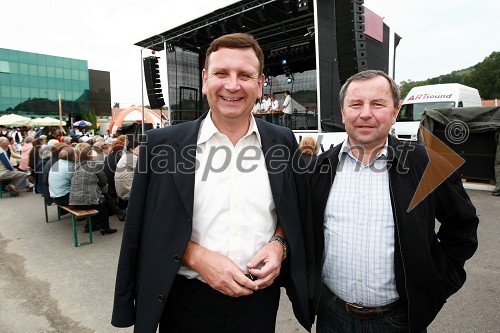
[[[335,1],[340,83],[368,69],[363,0]]]

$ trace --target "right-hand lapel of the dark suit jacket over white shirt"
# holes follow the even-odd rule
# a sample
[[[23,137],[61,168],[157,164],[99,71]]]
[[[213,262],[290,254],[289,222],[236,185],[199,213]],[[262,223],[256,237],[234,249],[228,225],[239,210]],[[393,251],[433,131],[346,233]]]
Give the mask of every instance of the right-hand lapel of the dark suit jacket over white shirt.
[[[269,176],[269,183],[271,184],[271,192],[273,193],[274,205],[278,207],[281,200],[281,191],[283,189],[283,177],[286,172],[283,172],[283,156],[273,156],[276,149],[285,147],[284,145],[275,145],[275,138],[272,133],[265,128],[265,126],[257,121],[260,137],[262,140],[262,152],[264,153],[267,174]],[[290,148],[290,147],[288,147]],[[281,162],[279,162],[281,161]],[[279,167],[278,167],[279,166]]]

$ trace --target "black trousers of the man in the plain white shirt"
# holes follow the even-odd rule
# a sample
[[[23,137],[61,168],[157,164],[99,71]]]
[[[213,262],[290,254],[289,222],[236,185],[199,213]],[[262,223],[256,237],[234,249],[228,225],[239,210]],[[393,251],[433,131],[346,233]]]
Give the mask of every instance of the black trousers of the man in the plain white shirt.
[[[160,333],[272,333],[280,289],[276,284],[243,297],[226,296],[198,279],[178,275],[160,321]]]

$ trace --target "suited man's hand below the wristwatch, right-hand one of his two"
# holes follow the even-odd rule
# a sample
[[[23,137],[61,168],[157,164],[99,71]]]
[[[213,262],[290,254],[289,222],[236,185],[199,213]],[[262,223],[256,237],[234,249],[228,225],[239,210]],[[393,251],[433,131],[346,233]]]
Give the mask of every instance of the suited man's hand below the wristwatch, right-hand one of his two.
[[[280,274],[281,261],[283,260],[283,246],[278,242],[270,242],[247,264],[248,271],[259,279],[256,284],[259,289],[269,287]]]

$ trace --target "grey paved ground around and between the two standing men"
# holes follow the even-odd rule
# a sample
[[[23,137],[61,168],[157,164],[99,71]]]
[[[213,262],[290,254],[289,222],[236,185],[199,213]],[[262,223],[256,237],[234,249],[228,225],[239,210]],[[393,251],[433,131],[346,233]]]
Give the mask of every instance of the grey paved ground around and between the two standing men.
[[[429,332],[500,331],[500,197],[468,192],[481,219],[479,250],[466,265],[464,288]],[[122,222],[112,217],[116,234],[94,233],[94,244],[75,248],[70,219],[45,223],[43,201],[33,193],[4,196],[0,212],[0,333],[132,332],[109,324]],[[56,218],[55,207],[49,217]],[[277,332],[305,332],[286,298]]]

